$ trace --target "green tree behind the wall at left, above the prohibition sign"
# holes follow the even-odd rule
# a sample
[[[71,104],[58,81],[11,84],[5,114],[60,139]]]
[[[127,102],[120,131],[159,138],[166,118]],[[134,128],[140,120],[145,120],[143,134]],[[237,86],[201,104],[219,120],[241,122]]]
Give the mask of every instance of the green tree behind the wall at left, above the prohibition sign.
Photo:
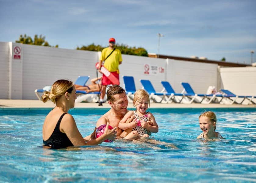
[[[51,46],[47,41],[45,41],[45,36],[43,37],[42,34],[37,36],[37,34],[34,36],[34,41],[30,36],[27,36],[27,34],[24,34],[24,36],[21,34],[19,40],[15,41],[16,43],[22,43],[27,45],[38,45],[38,46],[49,46],[49,47],[55,47],[58,48],[59,45]]]

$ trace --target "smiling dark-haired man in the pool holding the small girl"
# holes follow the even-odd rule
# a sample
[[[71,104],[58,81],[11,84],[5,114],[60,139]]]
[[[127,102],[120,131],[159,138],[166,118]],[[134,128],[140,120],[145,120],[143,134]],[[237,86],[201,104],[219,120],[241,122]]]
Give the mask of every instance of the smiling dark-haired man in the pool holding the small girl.
[[[107,91],[107,101],[108,104],[111,106],[111,109],[105,113],[100,119],[98,119],[96,127],[103,124],[107,124],[109,122],[109,125],[113,128],[116,127],[117,131],[117,138],[121,135],[121,133],[126,133],[125,131],[121,130],[118,127],[118,124],[120,120],[124,117],[124,115],[128,112],[127,106],[128,106],[128,100],[126,96],[125,90],[120,87],[119,85],[112,85],[108,88]],[[131,122],[134,119],[134,115],[127,120],[127,122]],[[123,134],[122,136],[126,136]]]

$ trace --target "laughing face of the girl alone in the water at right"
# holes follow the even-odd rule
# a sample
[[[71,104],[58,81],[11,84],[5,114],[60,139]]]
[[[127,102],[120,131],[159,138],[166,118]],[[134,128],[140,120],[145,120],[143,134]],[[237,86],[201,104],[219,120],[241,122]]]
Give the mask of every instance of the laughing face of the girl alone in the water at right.
[[[209,137],[214,133],[216,122],[212,122],[210,118],[206,116],[201,116],[199,118],[199,125],[204,134]]]

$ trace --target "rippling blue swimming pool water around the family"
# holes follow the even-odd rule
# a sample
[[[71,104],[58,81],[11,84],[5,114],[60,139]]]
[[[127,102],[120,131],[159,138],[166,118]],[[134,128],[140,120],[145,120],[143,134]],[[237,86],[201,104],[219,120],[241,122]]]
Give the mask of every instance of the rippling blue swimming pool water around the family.
[[[216,113],[216,131],[226,139],[196,139],[205,110]],[[159,125],[150,141],[59,150],[42,148],[49,111],[0,108],[0,182],[256,182],[254,108],[149,109]],[[106,111],[69,113],[86,136]]]

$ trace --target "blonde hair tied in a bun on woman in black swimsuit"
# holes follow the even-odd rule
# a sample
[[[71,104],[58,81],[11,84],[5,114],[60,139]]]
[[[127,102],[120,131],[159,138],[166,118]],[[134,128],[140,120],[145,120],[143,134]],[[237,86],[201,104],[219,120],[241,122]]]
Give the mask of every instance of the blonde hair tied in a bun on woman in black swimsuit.
[[[56,101],[58,101],[59,97],[63,94],[65,94],[66,92],[71,93],[73,91],[73,82],[69,81],[69,80],[58,80],[55,81],[52,84],[52,88],[51,91],[44,91],[43,95],[42,95],[42,101],[43,102],[47,102],[49,99],[51,99],[51,101],[53,103],[55,103]]]

